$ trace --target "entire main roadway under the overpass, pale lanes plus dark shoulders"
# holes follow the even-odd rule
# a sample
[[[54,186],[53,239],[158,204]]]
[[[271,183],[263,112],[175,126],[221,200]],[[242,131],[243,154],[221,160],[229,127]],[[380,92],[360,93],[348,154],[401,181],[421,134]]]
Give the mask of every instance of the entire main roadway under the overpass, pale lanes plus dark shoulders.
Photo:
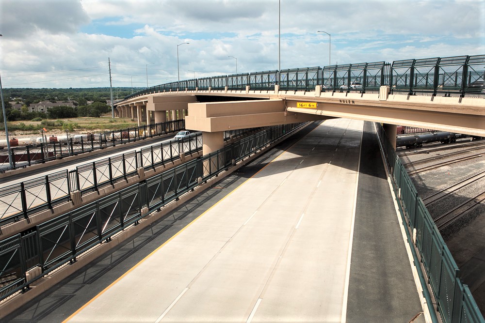
[[[375,137],[362,127],[325,121],[207,211],[187,212],[197,217],[121,277],[108,270],[110,280],[84,288],[86,269],[7,319],[409,322],[422,308]]]

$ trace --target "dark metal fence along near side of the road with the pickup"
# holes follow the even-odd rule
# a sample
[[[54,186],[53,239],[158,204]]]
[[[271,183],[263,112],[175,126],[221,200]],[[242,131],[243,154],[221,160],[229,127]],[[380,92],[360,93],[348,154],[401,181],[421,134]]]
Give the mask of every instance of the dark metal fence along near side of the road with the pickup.
[[[246,129],[224,132],[224,139],[246,134]],[[71,201],[71,192],[79,190],[81,196],[107,185],[127,181],[145,170],[165,165],[178,159],[180,153],[192,154],[202,149],[202,133],[193,133],[181,140],[170,140],[126,154],[118,154],[76,169],[62,170],[26,182],[0,188],[0,228],[22,218],[51,210]]]

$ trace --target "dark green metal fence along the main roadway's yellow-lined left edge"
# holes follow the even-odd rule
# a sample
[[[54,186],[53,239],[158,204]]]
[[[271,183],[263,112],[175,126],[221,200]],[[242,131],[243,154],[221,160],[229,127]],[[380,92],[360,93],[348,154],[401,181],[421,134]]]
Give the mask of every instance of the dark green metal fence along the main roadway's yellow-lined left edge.
[[[0,300],[303,124],[274,126],[0,241]],[[142,213],[142,209],[146,212]],[[38,267],[35,277],[26,272]],[[33,272],[33,271],[32,271]]]

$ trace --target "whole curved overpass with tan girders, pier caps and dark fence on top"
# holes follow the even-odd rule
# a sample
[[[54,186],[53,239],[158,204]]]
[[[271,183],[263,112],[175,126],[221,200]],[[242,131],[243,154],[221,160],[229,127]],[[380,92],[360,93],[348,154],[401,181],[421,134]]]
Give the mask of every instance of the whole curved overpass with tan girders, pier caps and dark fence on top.
[[[204,154],[224,130],[329,118],[484,137],[484,77],[484,55],[298,68],[162,84],[116,110],[148,124],[185,117],[207,137]]]

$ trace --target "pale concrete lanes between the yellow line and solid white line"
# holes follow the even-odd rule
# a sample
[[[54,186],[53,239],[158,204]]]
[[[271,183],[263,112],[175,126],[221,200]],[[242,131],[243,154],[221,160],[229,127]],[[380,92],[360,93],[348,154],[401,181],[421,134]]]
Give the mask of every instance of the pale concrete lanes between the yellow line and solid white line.
[[[339,320],[361,129],[326,121],[71,321]]]

